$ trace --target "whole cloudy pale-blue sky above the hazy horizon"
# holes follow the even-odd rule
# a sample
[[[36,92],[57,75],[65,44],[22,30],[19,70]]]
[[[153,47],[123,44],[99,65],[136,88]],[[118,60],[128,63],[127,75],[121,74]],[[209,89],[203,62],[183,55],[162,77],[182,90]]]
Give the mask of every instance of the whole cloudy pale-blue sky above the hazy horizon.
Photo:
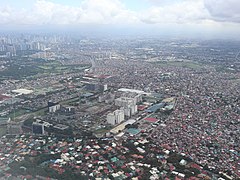
[[[0,0],[0,30],[59,26],[239,37],[240,0]]]

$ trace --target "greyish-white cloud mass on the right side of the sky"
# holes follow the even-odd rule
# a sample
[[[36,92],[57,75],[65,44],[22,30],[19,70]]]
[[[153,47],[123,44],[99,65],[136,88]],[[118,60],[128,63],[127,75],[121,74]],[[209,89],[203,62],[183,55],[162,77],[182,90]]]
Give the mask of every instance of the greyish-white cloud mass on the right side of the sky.
[[[146,11],[146,23],[240,23],[240,0],[145,0],[154,6]]]

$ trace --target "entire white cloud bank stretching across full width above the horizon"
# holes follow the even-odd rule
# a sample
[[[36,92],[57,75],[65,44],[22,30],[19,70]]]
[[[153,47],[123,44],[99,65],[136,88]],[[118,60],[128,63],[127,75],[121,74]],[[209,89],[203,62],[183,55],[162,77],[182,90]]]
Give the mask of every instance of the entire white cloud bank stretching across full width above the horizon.
[[[240,23],[239,0],[143,0],[152,7],[131,11],[121,0],[83,0],[79,7],[36,0],[32,9],[0,5],[0,24],[201,24]]]

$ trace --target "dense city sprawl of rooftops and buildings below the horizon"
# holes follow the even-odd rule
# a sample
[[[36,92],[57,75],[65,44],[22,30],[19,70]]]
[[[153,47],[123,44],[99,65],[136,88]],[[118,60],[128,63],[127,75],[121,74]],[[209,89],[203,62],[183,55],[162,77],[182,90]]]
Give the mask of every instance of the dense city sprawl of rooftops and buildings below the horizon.
[[[240,178],[240,42],[0,36],[0,179]]]

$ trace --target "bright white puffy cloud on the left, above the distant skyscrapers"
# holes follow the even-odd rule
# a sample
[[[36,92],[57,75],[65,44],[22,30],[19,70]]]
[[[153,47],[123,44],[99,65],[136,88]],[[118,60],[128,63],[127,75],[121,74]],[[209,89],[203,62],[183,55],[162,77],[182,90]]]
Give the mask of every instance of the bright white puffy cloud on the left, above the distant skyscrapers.
[[[81,6],[72,7],[38,0],[31,10],[0,8],[2,24],[113,24],[134,23],[136,13],[127,10],[119,0],[84,0]]]

